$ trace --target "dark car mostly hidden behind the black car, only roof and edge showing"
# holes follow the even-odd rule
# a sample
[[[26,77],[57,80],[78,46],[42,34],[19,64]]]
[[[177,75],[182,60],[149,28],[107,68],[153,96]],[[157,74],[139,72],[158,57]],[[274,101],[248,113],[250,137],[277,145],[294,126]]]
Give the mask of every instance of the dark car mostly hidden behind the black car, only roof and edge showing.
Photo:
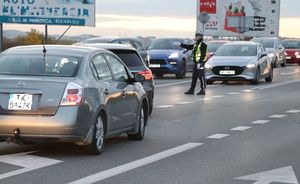
[[[95,37],[89,38],[81,41],[83,44],[94,44],[94,43],[117,43],[117,44],[125,44],[130,45],[136,50],[139,51],[142,56],[146,66],[149,67],[149,56],[146,52],[146,47],[142,43],[142,41],[138,38],[108,38],[108,37]]]

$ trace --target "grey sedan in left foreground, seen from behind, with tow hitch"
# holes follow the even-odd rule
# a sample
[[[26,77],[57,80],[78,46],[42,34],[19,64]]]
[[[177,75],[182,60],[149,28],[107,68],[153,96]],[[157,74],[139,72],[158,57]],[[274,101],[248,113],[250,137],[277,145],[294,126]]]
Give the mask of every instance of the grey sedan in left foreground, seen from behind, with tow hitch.
[[[143,80],[104,49],[11,48],[0,55],[0,140],[73,142],[96,154],[121,133],[142,140]]]

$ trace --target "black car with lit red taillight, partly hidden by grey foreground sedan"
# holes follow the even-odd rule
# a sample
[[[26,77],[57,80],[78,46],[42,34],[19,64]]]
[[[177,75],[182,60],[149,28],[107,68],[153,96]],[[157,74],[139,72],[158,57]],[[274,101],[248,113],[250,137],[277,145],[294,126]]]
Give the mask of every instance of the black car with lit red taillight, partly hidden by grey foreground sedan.
[[[149,99],[149,114],[153,111],[154,99],[154,81],[151,70],[145,65],[141,56],[136,49],[122,44],[84,44],[88,47],[96,47],[107,49],[116,54],[127,65],[133,74],[141,74],[145,77],[143,82],[144,90],[146,91]]]

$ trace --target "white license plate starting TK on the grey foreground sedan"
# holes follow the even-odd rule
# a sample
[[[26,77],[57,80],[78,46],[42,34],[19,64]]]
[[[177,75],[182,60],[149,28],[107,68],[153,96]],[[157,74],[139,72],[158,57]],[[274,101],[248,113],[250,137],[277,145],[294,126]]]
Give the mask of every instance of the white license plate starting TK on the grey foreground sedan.
[[[32,95],[10,94],[8,100],[8,110],[30,111],[32,109]]]

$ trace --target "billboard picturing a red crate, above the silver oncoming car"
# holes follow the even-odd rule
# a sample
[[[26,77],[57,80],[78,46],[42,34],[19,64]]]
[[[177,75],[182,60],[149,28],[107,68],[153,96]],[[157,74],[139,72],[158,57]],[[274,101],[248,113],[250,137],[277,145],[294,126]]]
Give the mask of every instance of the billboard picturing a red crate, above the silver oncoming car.
[[[203,13],[206,36],[279,36],[280,0],[197,0],[197,17]]]

